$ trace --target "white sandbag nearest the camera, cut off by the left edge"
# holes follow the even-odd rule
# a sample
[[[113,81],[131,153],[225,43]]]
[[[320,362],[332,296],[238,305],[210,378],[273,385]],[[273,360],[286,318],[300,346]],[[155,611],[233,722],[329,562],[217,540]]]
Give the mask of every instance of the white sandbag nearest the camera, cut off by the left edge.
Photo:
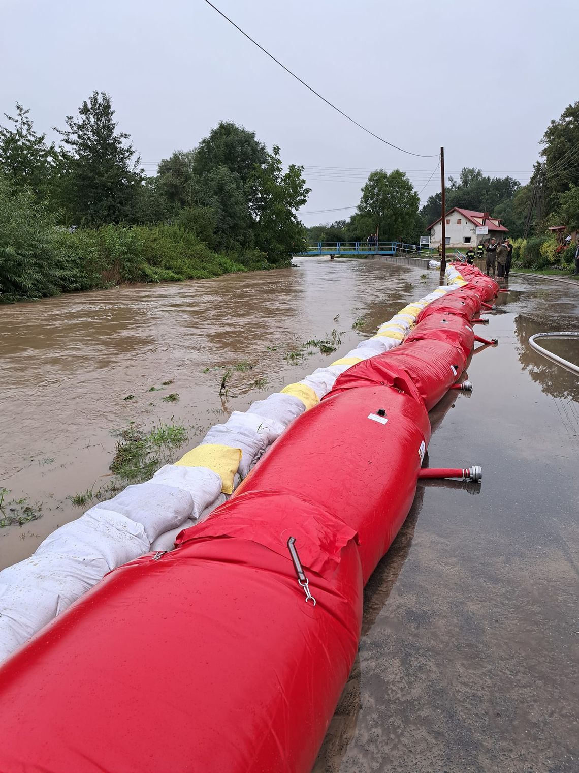
[[[34,585],[0,584],[0,662],[56,618],[58,608],[59,594],[54,591]]]

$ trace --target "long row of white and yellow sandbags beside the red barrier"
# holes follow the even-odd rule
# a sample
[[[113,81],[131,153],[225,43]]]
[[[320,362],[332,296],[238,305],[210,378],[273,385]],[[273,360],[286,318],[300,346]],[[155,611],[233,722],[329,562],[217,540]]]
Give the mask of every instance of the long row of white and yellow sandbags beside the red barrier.
[[[408,335],[418,314],[452,287],[401,309],[330,366],[234,411],[201,444],[150,481],[130,485],[44,540],[32,557],[0,571],[0,662],[86,593],[108,571],[147,553],[171,550],[175,537],[225,502],[285,428],[326,395],[337,376]]]

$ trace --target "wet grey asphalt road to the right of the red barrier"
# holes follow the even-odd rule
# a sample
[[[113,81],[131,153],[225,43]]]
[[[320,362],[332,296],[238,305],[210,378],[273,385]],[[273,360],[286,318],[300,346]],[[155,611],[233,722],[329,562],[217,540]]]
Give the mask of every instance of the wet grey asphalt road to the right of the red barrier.
[[[579,771],[579,381],[527,343],[579,329],[579,288],[510,288],[472,396],[431,414],[429,465],[482,465],[482,485],[419,485],[316,773]]]

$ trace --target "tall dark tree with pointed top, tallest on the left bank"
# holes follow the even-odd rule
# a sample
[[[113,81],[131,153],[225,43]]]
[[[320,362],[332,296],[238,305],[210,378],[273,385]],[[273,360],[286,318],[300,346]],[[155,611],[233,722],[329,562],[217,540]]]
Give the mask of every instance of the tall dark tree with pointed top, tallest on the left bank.
[[[66,117],[63,136],[59,199],[68,219],[97,226],[131,220],[143,178],[140,158],[130,135],[117,131],[110,97],[94,91],[79,108],[79,116]]]

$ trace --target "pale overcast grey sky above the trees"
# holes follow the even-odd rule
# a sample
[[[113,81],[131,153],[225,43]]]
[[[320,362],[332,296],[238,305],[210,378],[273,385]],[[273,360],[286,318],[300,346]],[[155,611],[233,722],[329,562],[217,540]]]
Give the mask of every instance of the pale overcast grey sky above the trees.
[[[579,0],[215,0],[341,110],[395,145],[527,182],[551,118],[579,99]],[[0,0],[0,113],[37,131],[110,93],[147,172],[222,119],[306,165],[306,225],[349,216],[371,169],[418,191],[436,158],[388,148],[284,72],[204,0]],[[346,169],[347,168],[347,169]],[[439,173],[422,201],[440,188]]]

